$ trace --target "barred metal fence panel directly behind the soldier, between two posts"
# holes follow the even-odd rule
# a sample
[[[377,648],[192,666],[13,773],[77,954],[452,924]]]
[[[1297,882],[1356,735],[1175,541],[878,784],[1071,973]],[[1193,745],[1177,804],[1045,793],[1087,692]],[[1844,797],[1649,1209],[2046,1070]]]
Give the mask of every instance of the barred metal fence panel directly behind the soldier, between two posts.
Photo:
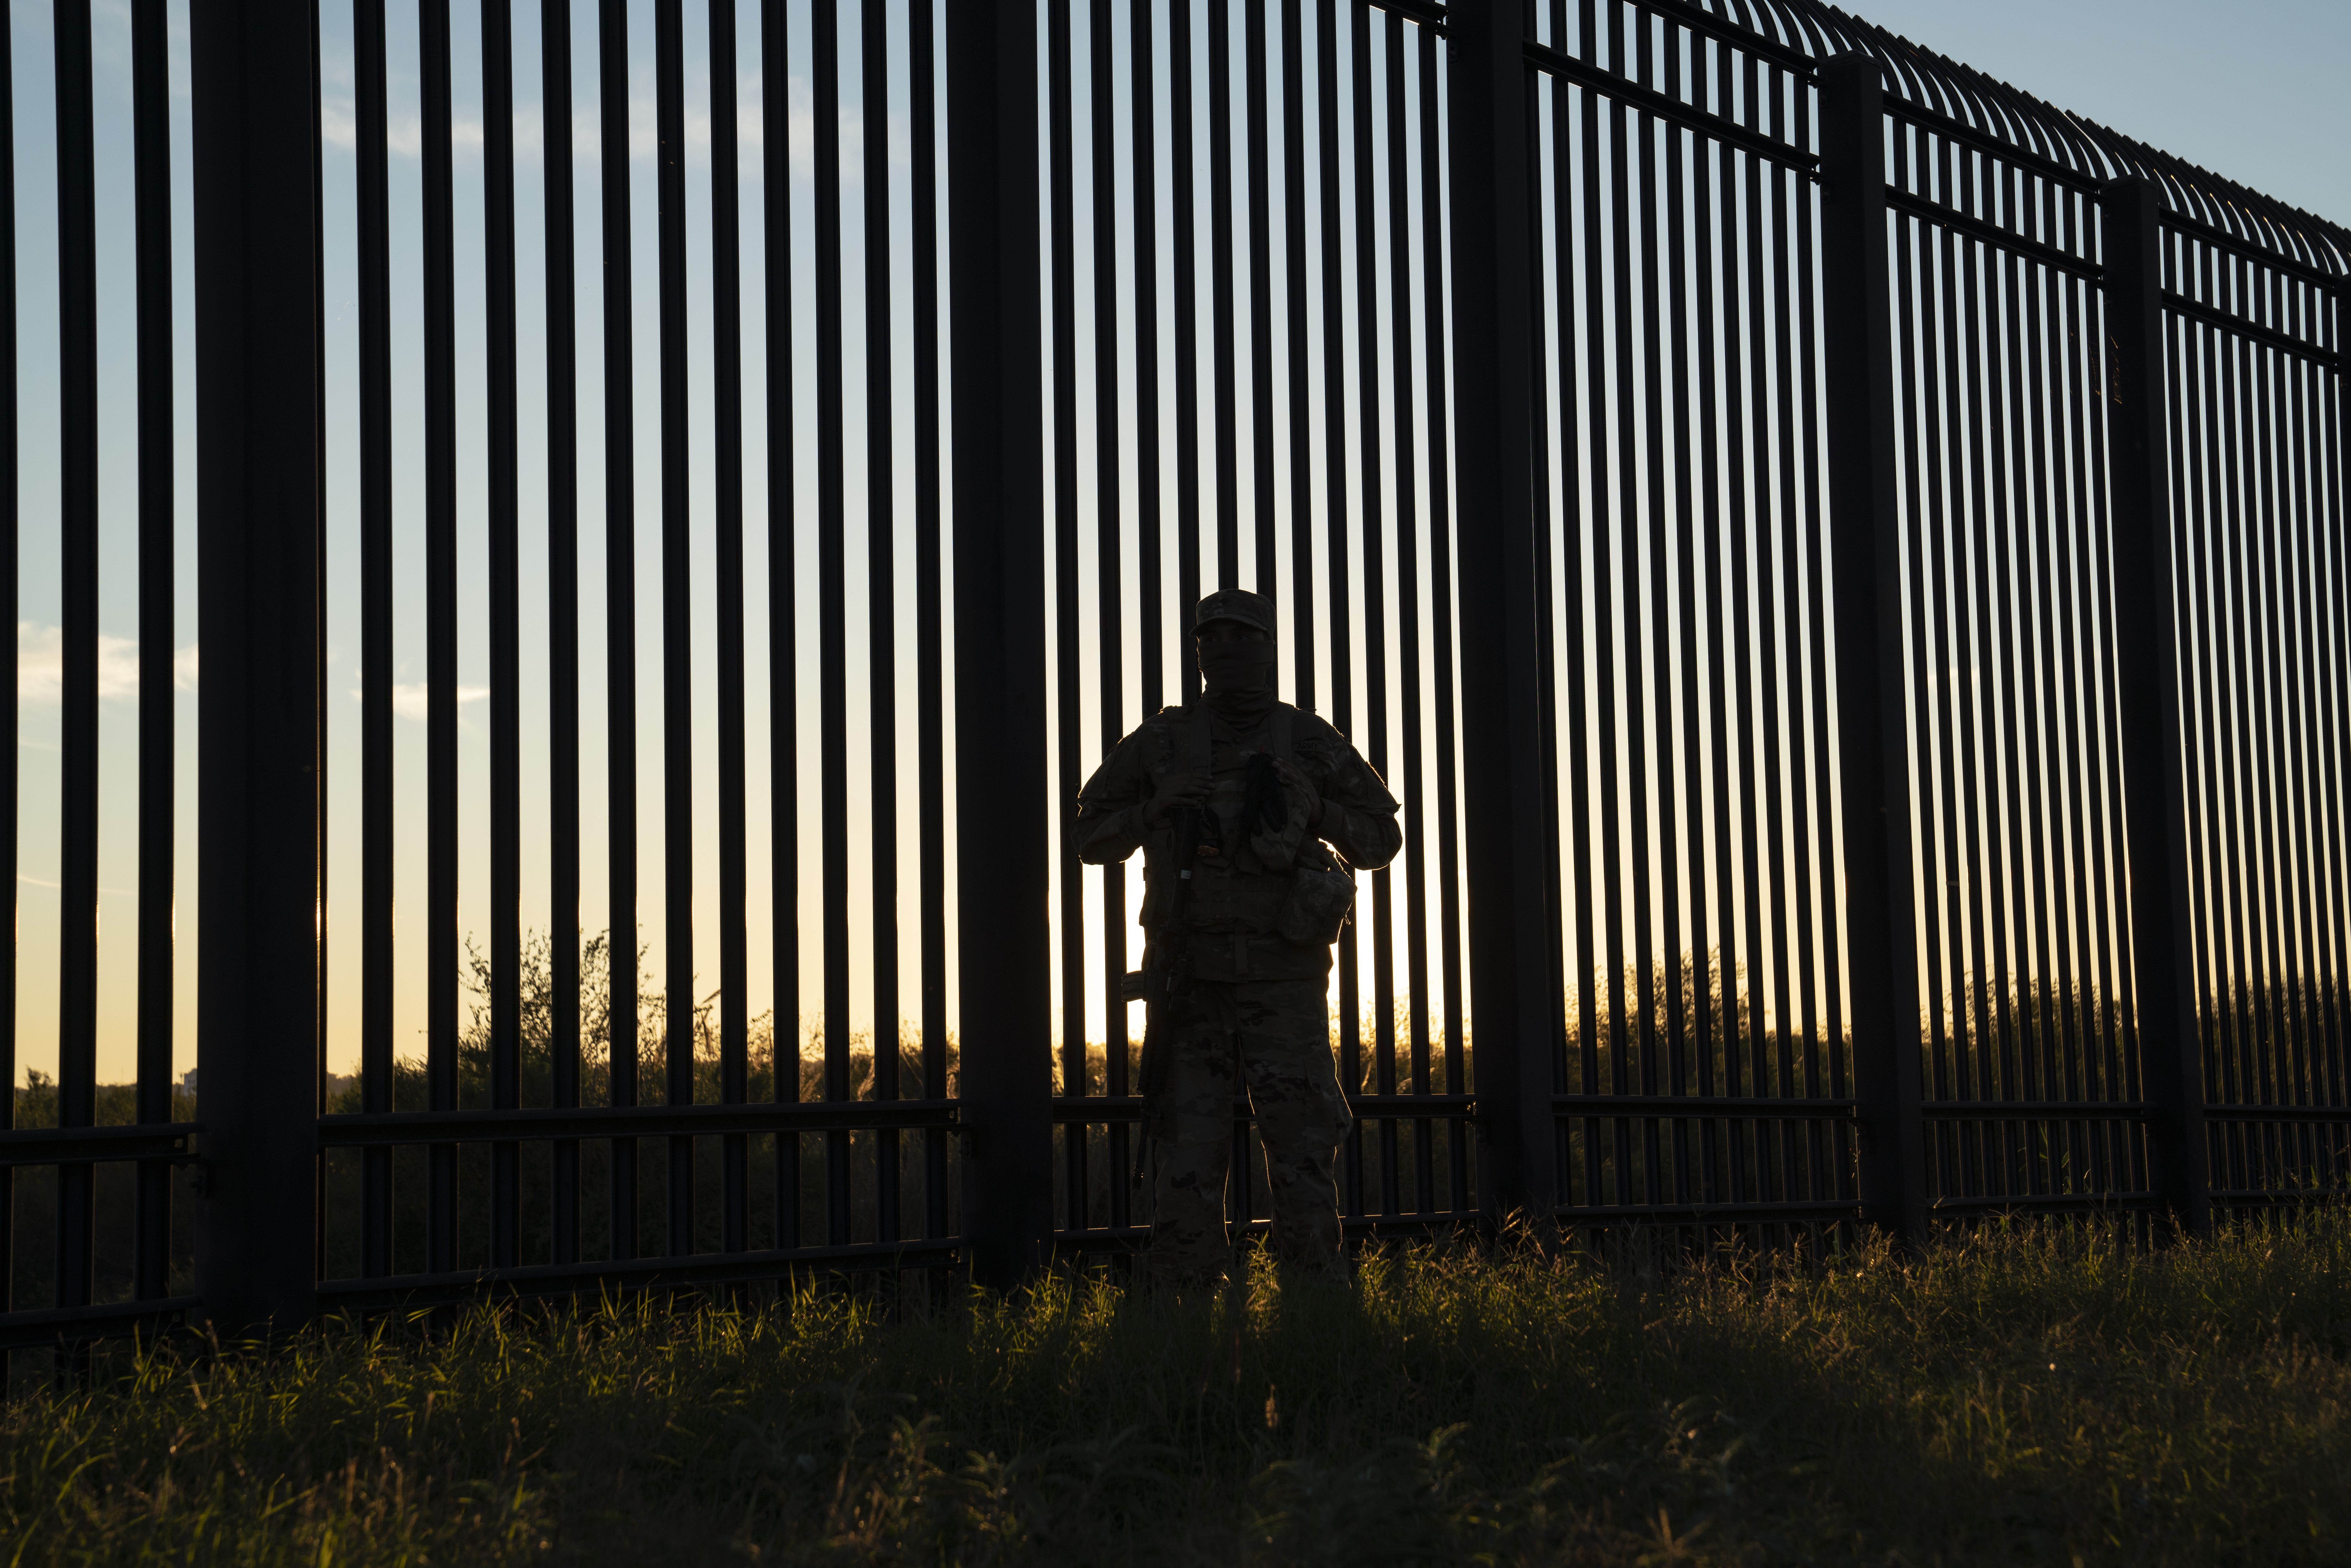
[[[1279,607],[1286,701],[1404,797],[1333,973],[1357,1232],[1474,1208],[1434,12],[1046,5],[1056,1241],[1145,1234],[1121,980],[1140,877],[1077,863],[1096,762],[1197,689],[1192,604]],[[1277,216],[1279,214],[1279,216]],[[1136,607],[1128,616],[1126,607]],[[1246,1145],[1248,1107],[1234,1107]],[[1253,1161],[1232,1213],[1262,1213]],[[1260,1220],[1262,1222],[1262,1220]]]

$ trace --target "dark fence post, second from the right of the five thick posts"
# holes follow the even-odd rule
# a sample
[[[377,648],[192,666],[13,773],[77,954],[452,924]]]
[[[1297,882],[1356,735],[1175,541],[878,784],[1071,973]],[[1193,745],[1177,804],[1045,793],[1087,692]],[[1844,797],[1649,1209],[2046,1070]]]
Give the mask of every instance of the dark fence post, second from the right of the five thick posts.
[[[1918,1246],[1925,1241],[1925,1133],[1886,282],[1886,118],[1878,61],[1867,54],[1838,54],[1820,66],[1820,176],[1846,978],[1862,1110],[1862,1213],[1881,1232]]]

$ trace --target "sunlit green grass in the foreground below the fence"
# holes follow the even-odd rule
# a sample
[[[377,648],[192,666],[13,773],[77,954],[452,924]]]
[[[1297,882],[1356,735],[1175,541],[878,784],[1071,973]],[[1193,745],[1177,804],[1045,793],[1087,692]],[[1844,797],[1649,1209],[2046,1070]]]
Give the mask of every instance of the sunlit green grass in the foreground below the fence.
[[[14,1563],[2320,1563],[2351,1225],[1918,1265],[1531,1248],[322,1326],[0,1415]],[[428,1331],[430,1328],[430,1331]]]

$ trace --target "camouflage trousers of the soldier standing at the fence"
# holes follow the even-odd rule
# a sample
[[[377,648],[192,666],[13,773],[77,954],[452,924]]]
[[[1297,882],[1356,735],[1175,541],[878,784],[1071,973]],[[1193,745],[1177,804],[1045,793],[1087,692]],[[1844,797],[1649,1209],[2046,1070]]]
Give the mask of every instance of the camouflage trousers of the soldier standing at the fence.
[[[1331,1063],[1328,980],[1194,980],[1185,1001],[1166,1006],[1168,1088],[1147,1128],[1159,1140],[1150,1272],[1213,1279],[1232,1260],[1237,1067],[1265,1147],[1274,1255],[1340,1267],[1333,1164],[1354,1117]]]

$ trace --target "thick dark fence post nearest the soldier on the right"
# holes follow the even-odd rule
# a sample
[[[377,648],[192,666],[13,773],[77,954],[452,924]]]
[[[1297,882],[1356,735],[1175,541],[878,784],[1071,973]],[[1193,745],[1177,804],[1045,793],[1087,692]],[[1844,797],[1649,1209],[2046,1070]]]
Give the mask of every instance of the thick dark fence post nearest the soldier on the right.
[[[1453,484],[1462,644],[1462,827],[1469,877],[1479,1201],[1547,1222],[1556,1190],[1556,867],[1545,865],[1535,675],[1533,230],[1519,0],[1446,14],[1453,181]]]

